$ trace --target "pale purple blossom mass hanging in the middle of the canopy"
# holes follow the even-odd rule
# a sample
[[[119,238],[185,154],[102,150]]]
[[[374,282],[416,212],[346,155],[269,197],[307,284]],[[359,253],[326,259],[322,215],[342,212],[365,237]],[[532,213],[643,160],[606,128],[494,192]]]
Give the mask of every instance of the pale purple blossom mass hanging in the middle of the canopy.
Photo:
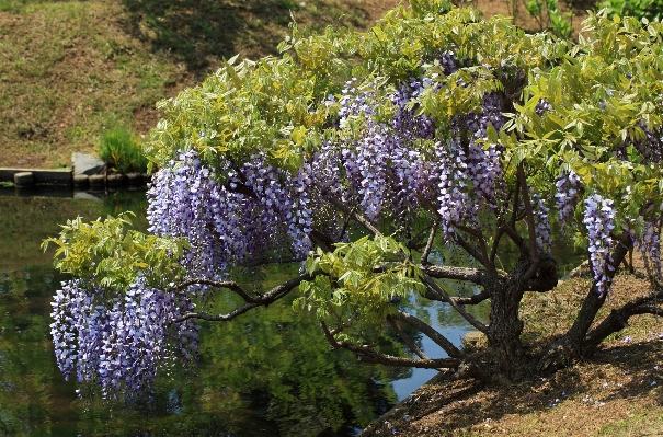
[[[370,220],[377,220],[385,207],[396,219],[408,217],[420,196],[435,191],[434,168],[416,148],[416,140],[434,137],[433,122],[407,107],[426,84],[412,79],[388,96],[397,107],[390,124],[375,119],[374,93],[358,93],[352,82],[343,90],[340,127],[362,118],[363,130],[355,140],[339,145],[339,159],[351,187],[347,197],[355,196]]]

